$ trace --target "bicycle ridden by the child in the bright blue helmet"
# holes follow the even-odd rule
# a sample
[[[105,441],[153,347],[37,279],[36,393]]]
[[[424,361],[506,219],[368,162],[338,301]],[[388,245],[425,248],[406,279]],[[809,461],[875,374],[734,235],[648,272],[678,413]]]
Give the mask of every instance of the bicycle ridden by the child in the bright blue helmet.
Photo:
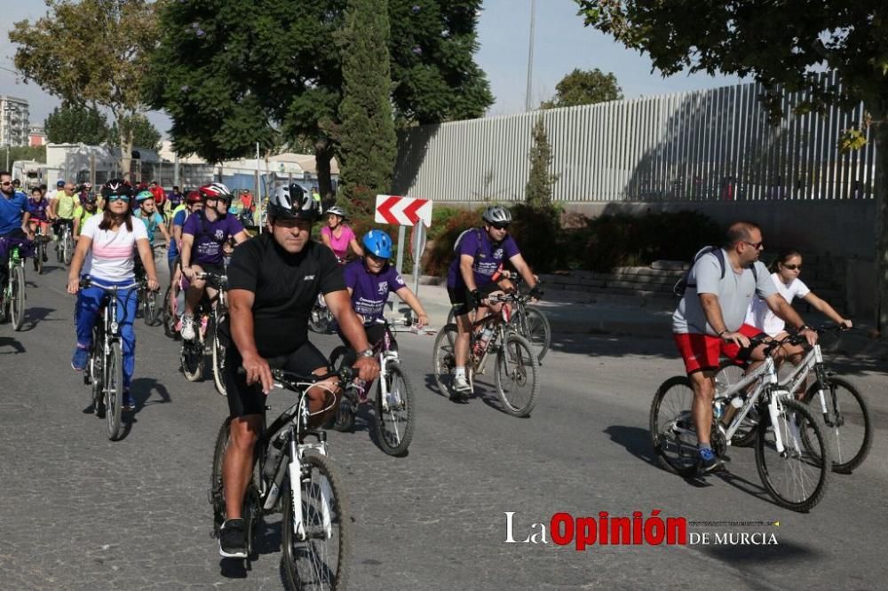
[[[416,424],[416,406],[413,386],[407,374],[401,369],[398,356],[398,343],[392,334],[396,325],[411,327],[409,317],[399,320],[382,320],[385,332],[378,343],[373,345],[373,353],[379,360],[379,381],[374,401],[374,424],[377,429],[380,449],[389,455],[404,455],[413,440]],[[350,365],[354,354],[340,345],[330,353],[330,366],[337,368],[345,362]],[[352,382],[343,392],[337,409],[333,428],[337,431],[352,431],[354,416],[361,402],[361,394],[370,389],[371,384]]]

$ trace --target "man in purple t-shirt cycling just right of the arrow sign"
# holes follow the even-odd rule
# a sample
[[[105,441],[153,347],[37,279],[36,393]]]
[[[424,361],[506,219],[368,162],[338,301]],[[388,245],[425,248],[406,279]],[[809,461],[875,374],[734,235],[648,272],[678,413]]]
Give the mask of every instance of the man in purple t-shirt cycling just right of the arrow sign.
[[[465,374],[469,359],[469,341],[472,321],[469,313],[487,305],[485,298],[500,288],[492,279],[504,260],[508,260],[530,287],[530,295],[536,299],[543,292],[536,286],[530,267],[521,256],[518,245],[509,235],[511,213],[499,205],[484,210],[484,226],[463,233],[456,251],[456,258],[448,271],[447,290],[456,318],[456,372],[452,398],[464,400],[472,392]]]

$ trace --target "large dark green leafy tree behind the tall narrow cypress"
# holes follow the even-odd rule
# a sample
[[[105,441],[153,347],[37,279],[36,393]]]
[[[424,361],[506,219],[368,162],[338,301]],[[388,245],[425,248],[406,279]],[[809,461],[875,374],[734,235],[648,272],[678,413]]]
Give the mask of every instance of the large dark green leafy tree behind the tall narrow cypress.
[[[343,98],[345,0],[164,2],[147,98],[172,118],[178,154],[210,162],[311,138],[325,199]],[[480,116],[493,102],[475,65],[480,0],[389,0],[392,105],[402,122]],[[183,33],[184,32],[184,33]]]

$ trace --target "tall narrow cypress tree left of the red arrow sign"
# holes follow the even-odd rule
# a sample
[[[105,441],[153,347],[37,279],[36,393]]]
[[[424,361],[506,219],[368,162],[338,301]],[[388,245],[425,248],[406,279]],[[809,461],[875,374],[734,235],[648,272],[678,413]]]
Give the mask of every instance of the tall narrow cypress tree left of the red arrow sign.
[[[349,0],[342,49],[343,98],[337,143],[345,196],[369,213],[392,185],[397,138],[392,119],[387,0]]]

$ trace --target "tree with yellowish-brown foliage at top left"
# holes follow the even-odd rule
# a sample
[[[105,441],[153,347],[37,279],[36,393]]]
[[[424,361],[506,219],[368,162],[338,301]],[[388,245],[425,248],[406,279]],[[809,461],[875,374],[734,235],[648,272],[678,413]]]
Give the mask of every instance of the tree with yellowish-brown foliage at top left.
[[[15,67],[69,105],[104,106],[115,122],[144,113],[147,53],[157,43],[155,3],[147,0],[47,0],[32,25],[13,25]],[[129,176],[131,128],[119,125],[121,169]]]

